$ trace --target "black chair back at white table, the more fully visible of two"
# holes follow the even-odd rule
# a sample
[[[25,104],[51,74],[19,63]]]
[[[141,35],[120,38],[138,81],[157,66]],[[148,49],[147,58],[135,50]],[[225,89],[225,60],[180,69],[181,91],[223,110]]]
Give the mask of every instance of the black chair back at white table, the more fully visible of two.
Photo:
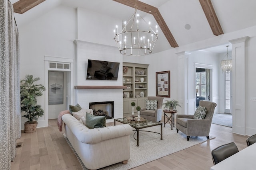
[[[236,147],[234,142],[221,145],[214,150],[212,150],[212,161],[213,164],[216,165],[222,160],[232,156],[233,154],[237,153],[239,150]]]

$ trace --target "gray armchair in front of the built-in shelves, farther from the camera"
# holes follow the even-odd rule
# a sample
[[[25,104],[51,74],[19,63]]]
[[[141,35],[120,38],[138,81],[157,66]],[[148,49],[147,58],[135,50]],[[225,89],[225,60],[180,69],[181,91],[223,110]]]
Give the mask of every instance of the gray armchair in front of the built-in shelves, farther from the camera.
[[[158,96],[157,97],[148,96],[148,100],[157,100],[157,109],[146,110],[146,108],[141,108],[140,116],[151,121],[161,121],[162,120],[162,104],[163,104],[164,98],[158,97]]]

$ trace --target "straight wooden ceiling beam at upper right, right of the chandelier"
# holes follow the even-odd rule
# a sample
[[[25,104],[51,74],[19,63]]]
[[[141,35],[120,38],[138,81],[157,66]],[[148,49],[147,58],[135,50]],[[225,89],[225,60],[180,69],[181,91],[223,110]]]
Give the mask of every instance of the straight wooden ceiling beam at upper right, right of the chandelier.
[[[216,36],[224,34],[221,28],[220,22],[218,20],[218,17],[212,6],[211,0],[199,0],[199,2],[204,10],[204,14],[208,20],[208,23],[210,24],[212,33]]]

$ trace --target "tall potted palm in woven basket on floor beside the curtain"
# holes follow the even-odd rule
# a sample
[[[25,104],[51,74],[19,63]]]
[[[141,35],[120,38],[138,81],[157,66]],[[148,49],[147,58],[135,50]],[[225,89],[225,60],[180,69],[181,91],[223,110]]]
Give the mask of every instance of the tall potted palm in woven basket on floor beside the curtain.
[[[37,97],[42,96],[46,87],[42,84],[34,84],[40,80],[39,77],[33,78],[33,75],[26,75],[24,80],[20,80],[20,105],[21,111],[24,111],[22,117],[28,121],[24,123],[24,132],[32,133],[36,131],[38,117],[44,115],[41,105],[37,104]]]

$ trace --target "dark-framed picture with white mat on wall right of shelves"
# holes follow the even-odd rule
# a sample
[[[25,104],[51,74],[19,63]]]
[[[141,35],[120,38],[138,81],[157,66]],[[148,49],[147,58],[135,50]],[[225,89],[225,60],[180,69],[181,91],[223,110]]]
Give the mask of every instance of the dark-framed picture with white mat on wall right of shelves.
[[[156,72],[156,96],[170,98],[170,71]]]

